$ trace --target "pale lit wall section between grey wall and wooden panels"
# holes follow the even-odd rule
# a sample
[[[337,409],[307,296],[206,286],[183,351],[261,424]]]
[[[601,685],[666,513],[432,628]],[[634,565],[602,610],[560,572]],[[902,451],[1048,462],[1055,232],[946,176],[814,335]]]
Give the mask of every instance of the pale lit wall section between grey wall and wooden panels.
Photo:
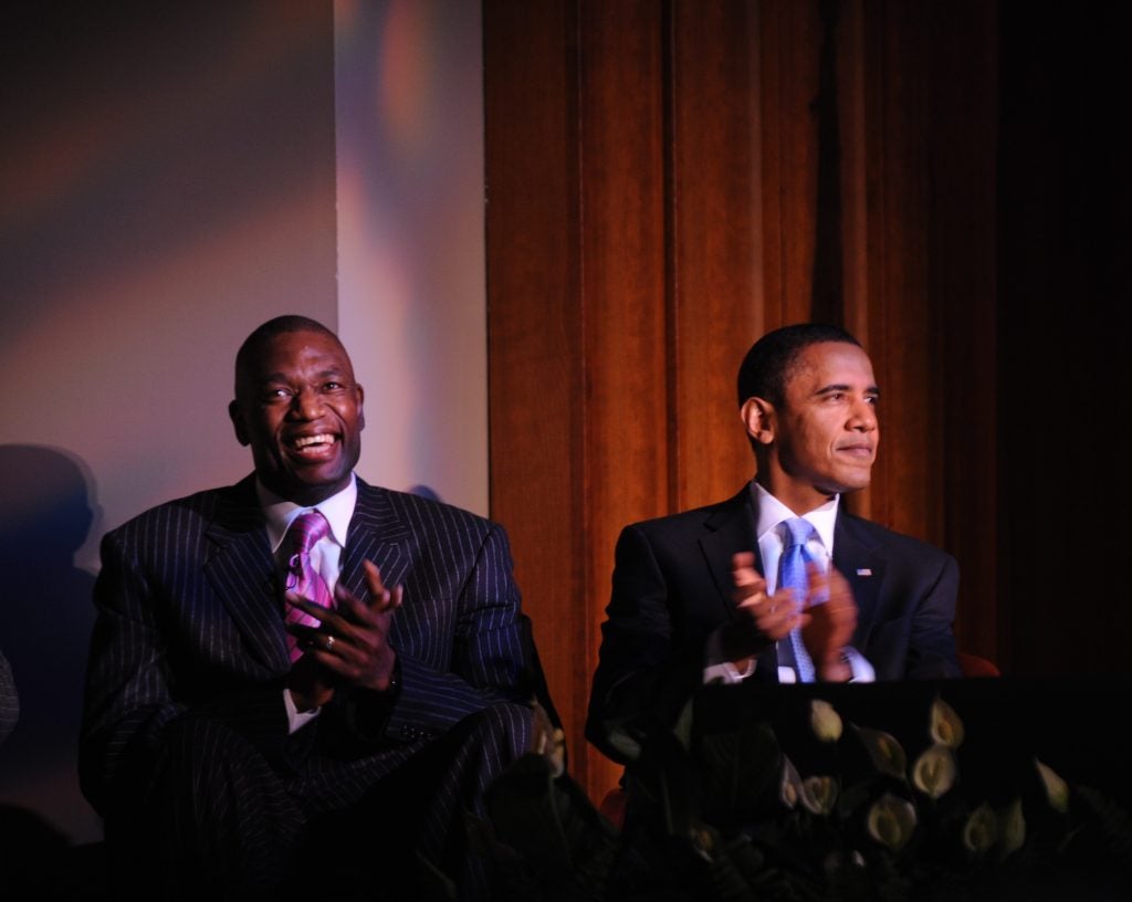
[[[336,0],[338,325],[359,472],[488,513],[483,87],[474,0]]]

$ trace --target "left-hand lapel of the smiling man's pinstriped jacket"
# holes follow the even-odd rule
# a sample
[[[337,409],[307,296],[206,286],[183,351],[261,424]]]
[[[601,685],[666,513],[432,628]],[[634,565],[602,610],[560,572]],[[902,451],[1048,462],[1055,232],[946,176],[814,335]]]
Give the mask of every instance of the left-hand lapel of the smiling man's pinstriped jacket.
[[[252,478],[221,496],[205,534],[214,546],[204,565],[213,590],[252,655],[273,671],[285,670],[290,662],[275,561]]]

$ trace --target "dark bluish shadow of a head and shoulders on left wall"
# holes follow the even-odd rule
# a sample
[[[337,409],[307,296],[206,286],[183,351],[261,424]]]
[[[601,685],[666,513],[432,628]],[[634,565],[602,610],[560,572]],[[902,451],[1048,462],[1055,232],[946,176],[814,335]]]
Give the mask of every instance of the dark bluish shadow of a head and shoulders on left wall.
[[[0,445],[0,652],[19,696],[0,744],[0,843],[19,854],[34,835],[68,844],[102,839],[78,788],[78,733],[94,576],[75,552],[95,525],[93,481],[67,453]]]

